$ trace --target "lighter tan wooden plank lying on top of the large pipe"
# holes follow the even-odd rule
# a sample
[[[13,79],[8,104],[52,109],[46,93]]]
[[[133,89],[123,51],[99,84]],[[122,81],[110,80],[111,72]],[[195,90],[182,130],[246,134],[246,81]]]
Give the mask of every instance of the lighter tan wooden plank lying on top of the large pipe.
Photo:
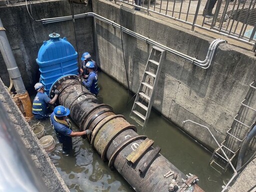
[[[153,140],[146,138],[135,150],[126,156],[126,159],[134,164],[153,143]]]

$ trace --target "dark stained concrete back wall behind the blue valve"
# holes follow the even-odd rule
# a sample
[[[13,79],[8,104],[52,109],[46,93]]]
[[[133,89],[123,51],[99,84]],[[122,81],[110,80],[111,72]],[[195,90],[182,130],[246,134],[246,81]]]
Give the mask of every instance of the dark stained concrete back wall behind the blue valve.
[[[31,7],[35,20],[71,15],[70,4],[67,0],[33,1]],[[74,14],[90,12],[91,3],[87,6],[73,3],[73,11]],[[74,34],[76,34],[78,56],[80,57],[85,51],[89,51],[93,55],[92,18],[75,19],[75,33],[72,20],[46,25],[40,21],[34,21],[27,13],[25,3],[0,5],[0,18],[27,89],[33,87],[33,84],[39,79],[38,64],[35,59],[42,42],[49,39],[50,33],[59,33],[60,38],[65,36],[75,50]],[[0,68],[0,76],[4,84],[8,86],[9,76],[1,54]]]

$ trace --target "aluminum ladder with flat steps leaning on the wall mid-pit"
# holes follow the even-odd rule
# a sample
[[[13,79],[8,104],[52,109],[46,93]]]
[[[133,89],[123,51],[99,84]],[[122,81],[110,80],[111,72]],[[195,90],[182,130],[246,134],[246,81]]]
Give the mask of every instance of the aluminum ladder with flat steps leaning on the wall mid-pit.
[[[152,46],[148,56],[146,67],[138,87],[138,91],[130,112],[130,117],[135,119],[143,127],[146,125],[153,103],[155,87],[159,79],[162,62],[166,51]],[[134,118],[133,116],[139,117]],[[141,121],[142,120],[142,121]]]

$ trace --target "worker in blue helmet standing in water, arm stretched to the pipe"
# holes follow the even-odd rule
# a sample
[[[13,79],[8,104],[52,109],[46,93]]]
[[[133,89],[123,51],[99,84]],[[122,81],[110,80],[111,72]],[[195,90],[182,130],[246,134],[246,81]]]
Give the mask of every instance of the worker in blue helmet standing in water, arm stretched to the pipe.
[[[53,112],[50,114],[50,122],[57,136],[57,139],[62,143],[62,149],[64,152],[69,153],[72,150],[72,138],[73,136],[82,136],[85,134],[90,134],[92,131],[87,129],[84,131],[72,131],[70,120],[67,115],[69,114],[69,109],[58,105],[54,108]]]

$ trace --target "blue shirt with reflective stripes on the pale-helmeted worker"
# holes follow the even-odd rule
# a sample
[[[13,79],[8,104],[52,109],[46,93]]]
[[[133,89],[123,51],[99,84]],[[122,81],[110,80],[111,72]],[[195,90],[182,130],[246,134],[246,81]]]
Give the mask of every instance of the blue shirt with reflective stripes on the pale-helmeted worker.
[[[50,98],[42,93],[37,92],[33,100],[32,113],[35,118],[43,119],[48,117],[48,103]]]

